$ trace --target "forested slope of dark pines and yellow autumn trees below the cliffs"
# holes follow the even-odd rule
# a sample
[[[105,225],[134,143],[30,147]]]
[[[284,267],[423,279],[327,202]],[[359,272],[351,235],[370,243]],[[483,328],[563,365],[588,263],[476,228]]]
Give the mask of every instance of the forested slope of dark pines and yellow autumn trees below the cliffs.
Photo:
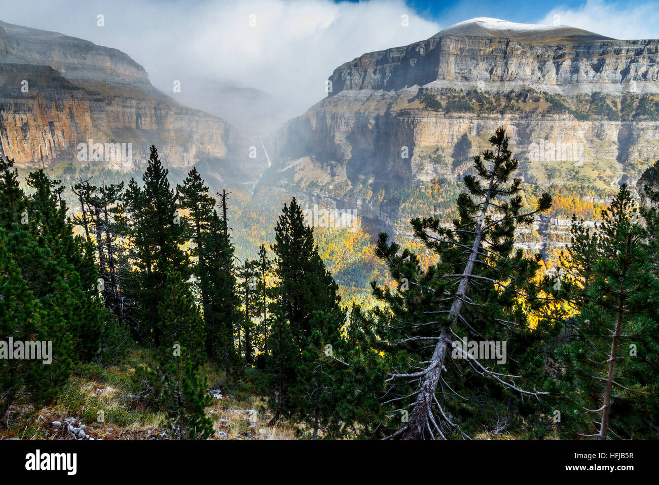
[[[0,434],[659,437],[656,167],[575,201],[489,145],[375,239],[156,146],[127,178],[2,158]]]

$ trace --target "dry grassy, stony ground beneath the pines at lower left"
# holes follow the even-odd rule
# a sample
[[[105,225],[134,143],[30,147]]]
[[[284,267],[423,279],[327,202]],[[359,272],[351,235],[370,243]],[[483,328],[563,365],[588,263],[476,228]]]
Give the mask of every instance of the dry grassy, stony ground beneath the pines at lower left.
[[[132,357],[133,364],[144,358],[140,354]],[[223,380],[212,366],[202,372],[211,383]],[[145,409],[132,396],[132,373],[134,366],[81,366],[55,402],[38,410],[28,403],[14,404],[7,413],[6,428],[0,428],[0,439],[75,439],[67,432],[67,420],[74,420],[75,427],[84,424],[85,434],[93,439],[169,439],[165,412]],[[268,426],[272,414],[266,400],[254,393],[253,387],[246,379],[239,385],[240,390],[227,391],[222,399],[213,399],[206,408],[215,429],[212,439],[295,439],[295,426],[283,420]]]

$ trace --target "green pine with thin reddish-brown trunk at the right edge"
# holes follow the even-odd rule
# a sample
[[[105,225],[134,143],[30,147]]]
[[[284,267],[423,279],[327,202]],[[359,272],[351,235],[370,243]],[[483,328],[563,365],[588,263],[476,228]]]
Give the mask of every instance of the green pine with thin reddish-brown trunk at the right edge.
[[[626,185],[602,218],[590,265],[583,264],[593,257],[583,249],[593,240],[587,234],[575,238],[566,259],[587,284],[573,298],[582,305],[576,339],[557,352],[565,368],[554,386],[565,416],[561,435],[656,438],[659,279]]]

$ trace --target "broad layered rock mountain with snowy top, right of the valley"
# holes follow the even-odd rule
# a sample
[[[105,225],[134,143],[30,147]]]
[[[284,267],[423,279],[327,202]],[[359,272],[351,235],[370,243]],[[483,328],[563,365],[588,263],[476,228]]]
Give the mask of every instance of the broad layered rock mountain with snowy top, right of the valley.
[[[499,125],[529,194],[569,187],[592,207],[659,158],[658,40],[474,18],[366,53],[328,84],[327,98],[281,129],[262,183],[354,207],[380,228],[429,215],[410,197],[453,197]],[[447,207],[430,199],[431,212]],[[565,232],[571,210],[536,227],[536,245],[543,230]]]

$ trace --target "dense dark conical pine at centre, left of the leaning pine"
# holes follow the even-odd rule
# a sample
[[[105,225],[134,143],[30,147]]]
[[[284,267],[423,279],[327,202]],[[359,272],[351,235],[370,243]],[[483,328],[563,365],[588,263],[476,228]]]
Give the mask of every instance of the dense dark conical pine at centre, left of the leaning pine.
[[[270,348],[273,422],[280,414],[297,414],[310,425],[312,436],[318,437],[321,427],[334,432],[331,423],[338,422],[337,407],[330,403],[336,403],[340,395],[340,379],[331,375],[340,361],[329,356],[326,348],[340,346],[345,311],[295,197],[279,216],[272,249],[279,280]]]

